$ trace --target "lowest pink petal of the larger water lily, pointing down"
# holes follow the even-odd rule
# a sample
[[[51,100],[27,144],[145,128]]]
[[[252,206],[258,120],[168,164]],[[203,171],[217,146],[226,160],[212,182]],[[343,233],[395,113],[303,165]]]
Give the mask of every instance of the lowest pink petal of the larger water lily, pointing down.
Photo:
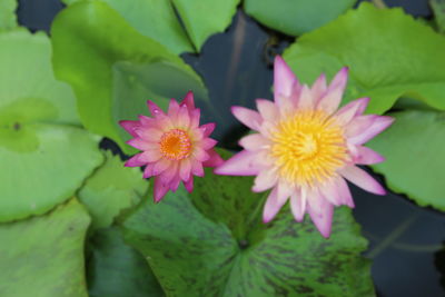
[[[334,206],[316,192],[312,192],[308,200],[309,205],[307,210],[312,220],[323,237],[329,238],[333,225]]]

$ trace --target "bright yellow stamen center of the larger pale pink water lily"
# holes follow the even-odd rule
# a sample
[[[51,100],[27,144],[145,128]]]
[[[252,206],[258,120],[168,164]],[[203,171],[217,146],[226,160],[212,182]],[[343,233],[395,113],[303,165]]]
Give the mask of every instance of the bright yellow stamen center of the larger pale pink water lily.
[[[298,112],[276,128],[271,156],[280,177],[290,184],[324,182],[348,158],[343,128],[324,111]]]

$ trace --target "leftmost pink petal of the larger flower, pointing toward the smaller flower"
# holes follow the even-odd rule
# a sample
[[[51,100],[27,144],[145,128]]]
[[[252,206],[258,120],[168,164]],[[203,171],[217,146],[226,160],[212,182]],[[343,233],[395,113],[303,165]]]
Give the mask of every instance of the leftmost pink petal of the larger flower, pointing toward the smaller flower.
[[[215,169],[215,174],[224,176],[256,176],[260,170],[257,155],[241,150]]]

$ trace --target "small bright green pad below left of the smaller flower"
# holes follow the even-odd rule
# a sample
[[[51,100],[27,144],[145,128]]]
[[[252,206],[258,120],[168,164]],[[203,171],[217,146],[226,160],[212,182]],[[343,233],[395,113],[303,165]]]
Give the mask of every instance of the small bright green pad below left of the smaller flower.
[[[119,156],[109,151],[106,157],[78,194],[91,215],[93,228],[109,227],[121,210],[137,205],[148,189],[139,168],[125,167]]]

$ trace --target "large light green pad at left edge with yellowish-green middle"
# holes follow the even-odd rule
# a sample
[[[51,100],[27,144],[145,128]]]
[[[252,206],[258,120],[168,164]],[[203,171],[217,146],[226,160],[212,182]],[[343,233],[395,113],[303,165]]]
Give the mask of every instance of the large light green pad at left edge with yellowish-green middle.
[[[0,34],[0,221],[48,211],[102,160],[99,138],[68,125],[78,123],[75,98],[50,56],[42,33]]]

